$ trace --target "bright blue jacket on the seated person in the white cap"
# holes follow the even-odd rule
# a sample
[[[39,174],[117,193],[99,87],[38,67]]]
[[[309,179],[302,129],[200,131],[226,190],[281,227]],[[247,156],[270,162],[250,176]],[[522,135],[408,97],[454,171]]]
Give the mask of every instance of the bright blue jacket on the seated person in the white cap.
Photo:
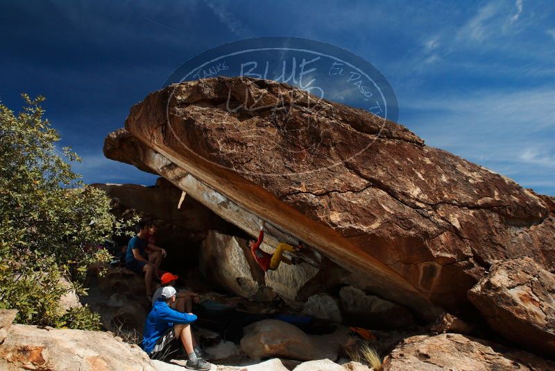
[[[158,299],[144,322],[141,347],[150,354],[156,341],[171,329],[173,324],[189,324],[194,321],[196,321],[196,315],[175,311],[164,302],[164,299]]]

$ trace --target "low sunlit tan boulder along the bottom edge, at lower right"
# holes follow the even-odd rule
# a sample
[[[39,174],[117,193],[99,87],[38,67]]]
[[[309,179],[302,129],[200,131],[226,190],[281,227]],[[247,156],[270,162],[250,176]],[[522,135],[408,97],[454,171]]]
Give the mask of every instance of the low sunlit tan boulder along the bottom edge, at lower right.
[[[538,356],[456,333],[404,339],[384,360],[384,371],[554,369],[555,363]]]

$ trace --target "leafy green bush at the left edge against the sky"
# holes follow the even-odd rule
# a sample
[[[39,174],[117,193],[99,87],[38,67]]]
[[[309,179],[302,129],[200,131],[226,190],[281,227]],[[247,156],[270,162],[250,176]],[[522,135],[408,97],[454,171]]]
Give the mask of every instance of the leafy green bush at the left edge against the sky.
[[[17,309],[19,323],[98,329],[88,307],[60,314],[61,281],[84,295],[87,267],[110,259],[95,246],[121,224],[105,193],[71,171],[77,154],[56,147],[44,98],[23,97],[17,114],[0,103],[0,308]]]

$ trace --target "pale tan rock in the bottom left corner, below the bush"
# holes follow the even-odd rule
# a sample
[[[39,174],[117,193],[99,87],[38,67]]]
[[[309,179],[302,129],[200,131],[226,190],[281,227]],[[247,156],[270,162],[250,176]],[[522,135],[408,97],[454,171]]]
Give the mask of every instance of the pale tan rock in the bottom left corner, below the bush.
[[[2,329],[6,325],[2,320]],[[0,343],[0,370],[155,371],[145,352],[108,332],[12,324]]]

